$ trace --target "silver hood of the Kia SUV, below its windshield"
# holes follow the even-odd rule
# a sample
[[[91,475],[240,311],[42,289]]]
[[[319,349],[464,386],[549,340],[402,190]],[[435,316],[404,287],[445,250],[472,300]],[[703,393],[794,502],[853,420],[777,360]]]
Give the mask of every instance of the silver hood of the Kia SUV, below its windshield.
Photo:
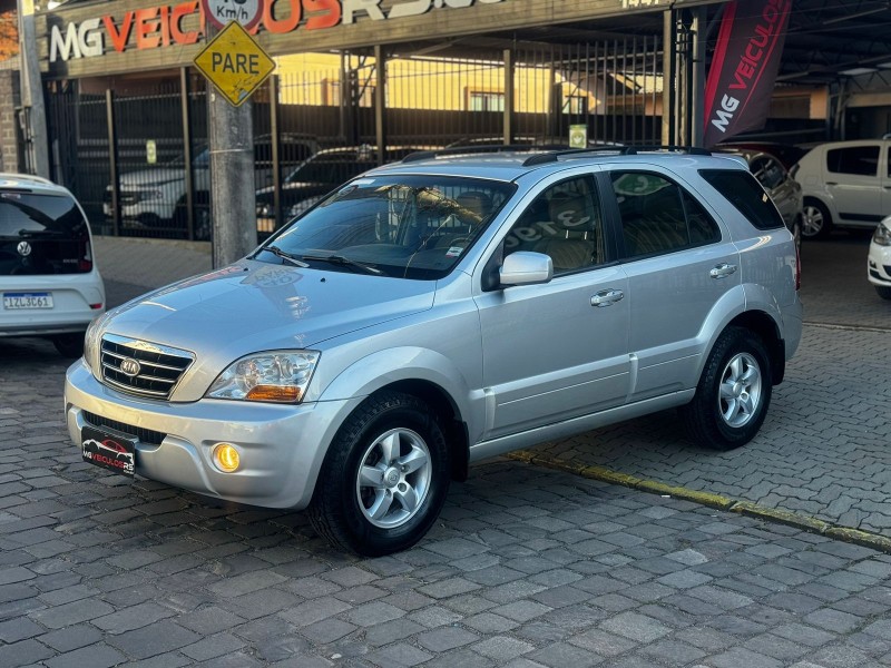
[[[200,399],[235,360],[321,342],[430,308],[435,283],[244,259],[111,311],[111,333],[190,351],[177,401]]]

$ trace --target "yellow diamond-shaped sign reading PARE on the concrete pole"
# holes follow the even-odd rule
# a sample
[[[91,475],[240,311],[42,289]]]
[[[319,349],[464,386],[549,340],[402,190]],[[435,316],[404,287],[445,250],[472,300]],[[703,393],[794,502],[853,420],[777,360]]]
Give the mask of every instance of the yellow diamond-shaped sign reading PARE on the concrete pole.
[[[195,67],[238,107],[275,69],[275,62],[235,21],[195,57]]]

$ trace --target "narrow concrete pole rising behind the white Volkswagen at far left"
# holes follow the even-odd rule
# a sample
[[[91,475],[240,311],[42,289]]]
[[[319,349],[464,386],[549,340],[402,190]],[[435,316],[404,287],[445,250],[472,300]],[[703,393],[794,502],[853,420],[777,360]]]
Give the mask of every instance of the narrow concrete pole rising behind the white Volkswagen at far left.
[[[25,136],[28,141],[28,165],[37,176],[49,178],[49,144],[43,86],[37,60],[33,0],[17,0],[19,14],[19,58],[21,70],[21,104],[25,115]]]

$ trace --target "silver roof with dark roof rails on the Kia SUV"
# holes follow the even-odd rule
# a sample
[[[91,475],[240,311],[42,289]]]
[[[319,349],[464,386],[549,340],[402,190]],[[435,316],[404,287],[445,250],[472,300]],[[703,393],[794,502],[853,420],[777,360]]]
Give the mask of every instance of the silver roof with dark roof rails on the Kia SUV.
[[[433,153],[424,151],[408,159],[378,167],[369,174],[404,174],[407,171],[439,175],[479,176],[499,180],[515,180],[533,170],[559,171],[582,164],[610,164],[628,161],[648,165],[668,164],[674,169],[713,168],[743,169],[740,160],[730,156],[712,155],[704,150],[691,153],[642,151],[623,153],[616,149],[499,153]]]

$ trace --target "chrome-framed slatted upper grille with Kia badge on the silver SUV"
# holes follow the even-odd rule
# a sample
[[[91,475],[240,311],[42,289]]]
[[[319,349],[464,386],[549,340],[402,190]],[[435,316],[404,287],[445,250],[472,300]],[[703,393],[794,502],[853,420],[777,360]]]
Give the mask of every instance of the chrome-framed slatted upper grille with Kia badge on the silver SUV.
[[[102,381],[129,394],[169,399],[194,360],[192,353],[166,345],[114,334],[102,337]],[[125,373],[121,365],[136,367],[136,373]]]

